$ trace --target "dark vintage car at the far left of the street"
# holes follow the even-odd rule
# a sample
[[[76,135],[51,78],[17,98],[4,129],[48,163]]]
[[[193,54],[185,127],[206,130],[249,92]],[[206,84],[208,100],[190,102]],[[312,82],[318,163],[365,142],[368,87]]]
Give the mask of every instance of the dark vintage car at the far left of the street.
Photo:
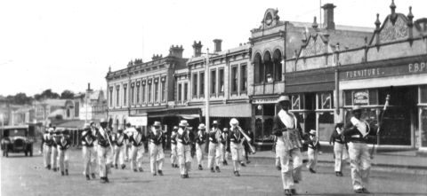
[[[25,153],[33,156],[34,141],[28,138],[28,125],[0,127],[3,156],[9,153]]]

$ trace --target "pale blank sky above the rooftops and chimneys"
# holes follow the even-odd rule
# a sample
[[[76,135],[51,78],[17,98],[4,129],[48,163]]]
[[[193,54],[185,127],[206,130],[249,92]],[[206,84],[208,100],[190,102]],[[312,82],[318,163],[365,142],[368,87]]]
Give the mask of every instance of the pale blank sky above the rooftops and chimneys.
[[[277,8],[280,20],[312,22],[326,3],[336,5],[335,25],[374,28],[376,13],[383,22],[391,12],[391,0],[2,0],[0,95],[81,92],[89,82],[105,90],[109,67],[165,57],[171,45],[190,58],[194,41],[203,51],[213,51],[214,39],[222,39],[222,50],[238,47],[268,8]],[[415,20],[427,17],[425,0],[395,4],[405,15],[413,6]]]

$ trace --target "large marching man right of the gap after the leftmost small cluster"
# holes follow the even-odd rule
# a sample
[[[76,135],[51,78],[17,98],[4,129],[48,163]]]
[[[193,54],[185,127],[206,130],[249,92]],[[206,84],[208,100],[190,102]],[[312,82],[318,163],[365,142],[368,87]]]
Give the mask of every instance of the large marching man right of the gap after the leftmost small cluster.
[[[95,178],[95,168],[96,168],[96,150],[93,147],[95,142],[95,133],[93,133],[92,128],[89,124],[85,125],[85,129],[82,133],[82,153],[83,153],[83,175],[86,176],[86,180]]]

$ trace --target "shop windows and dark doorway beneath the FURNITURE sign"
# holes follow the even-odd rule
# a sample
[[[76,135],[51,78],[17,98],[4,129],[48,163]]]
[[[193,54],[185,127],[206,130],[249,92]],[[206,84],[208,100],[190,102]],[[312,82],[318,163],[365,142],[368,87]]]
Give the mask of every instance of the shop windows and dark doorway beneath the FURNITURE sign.
[[[414,145],[414,132],[418,127],[417,92],[416,86],[350,90],[345,92],[345,102],[362,105],[362,119],[372,125],[383,115],[380,145]],[[383,112],[387,95],[390,95],[390,106]],[[349,108],[346,122],[350,121],[350,117]]]

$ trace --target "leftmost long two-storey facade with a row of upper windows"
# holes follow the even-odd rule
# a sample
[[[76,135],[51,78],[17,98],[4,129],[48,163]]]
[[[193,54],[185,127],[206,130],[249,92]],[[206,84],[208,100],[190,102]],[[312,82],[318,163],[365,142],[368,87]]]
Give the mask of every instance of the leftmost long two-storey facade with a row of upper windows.
[[[174,70],[185,67],[187,61],[182,51],[182,46],[171,46],[165,58],[156,55],[146,63],[137,59],[125,69],[109,71],[108,118],[114,129],[123,129],[126,120],[144,131],[154,121],[165,123],[168,105],[174,102]]]

